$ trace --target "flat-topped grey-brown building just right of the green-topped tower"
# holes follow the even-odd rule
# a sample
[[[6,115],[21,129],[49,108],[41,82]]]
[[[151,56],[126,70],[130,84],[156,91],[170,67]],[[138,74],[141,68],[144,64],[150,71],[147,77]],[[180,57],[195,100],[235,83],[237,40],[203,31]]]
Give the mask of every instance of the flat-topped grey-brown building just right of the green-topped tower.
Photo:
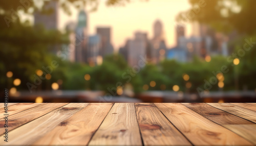
[[[100,55],[102,57],[113,54],[114,53],[114,48],[111,43],[111,28],[109,27],[98,27],[97,28],[97,34],[101,38],[101,43],[100,43]]]

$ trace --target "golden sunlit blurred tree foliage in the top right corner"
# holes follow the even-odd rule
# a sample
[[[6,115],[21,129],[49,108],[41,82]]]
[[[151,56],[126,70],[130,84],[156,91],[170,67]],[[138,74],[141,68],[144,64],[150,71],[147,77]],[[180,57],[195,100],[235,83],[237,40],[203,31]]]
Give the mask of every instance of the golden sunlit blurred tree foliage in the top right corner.
[[[179,22],[198,21],[222,32],[237,30],[241,34],[256,33],[256,1],[254,0],[189,0],[191,8],[177,16]]]

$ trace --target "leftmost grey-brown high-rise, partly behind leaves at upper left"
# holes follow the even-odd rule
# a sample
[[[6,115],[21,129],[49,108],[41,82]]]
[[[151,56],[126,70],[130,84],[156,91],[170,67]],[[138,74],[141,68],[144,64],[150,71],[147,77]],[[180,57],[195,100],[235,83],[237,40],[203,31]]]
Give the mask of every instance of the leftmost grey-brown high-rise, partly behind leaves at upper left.
[[[43,25],[48,30],[58,29],[58,1],[49,1],[44,6],[45,10],[50,10],[51,13],[42,13],[36,11],[34,13],[34,25]]]

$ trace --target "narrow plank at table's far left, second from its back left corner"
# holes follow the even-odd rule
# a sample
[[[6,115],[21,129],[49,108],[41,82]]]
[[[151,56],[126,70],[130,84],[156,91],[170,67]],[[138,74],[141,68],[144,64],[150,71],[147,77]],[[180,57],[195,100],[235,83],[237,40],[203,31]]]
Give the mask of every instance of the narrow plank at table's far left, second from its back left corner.
[[[42,103],[19,103],[19,104],[15,104],[12,105],[10,107],[8,107],[8,114],[13,115],[13,114],[17,114],[19,112],[31,109],[33,107],[39,106]],[[0,109],[0,113],[4,113],[4,108]],[[1,114],[0,119],[4,118],[4,115]]]

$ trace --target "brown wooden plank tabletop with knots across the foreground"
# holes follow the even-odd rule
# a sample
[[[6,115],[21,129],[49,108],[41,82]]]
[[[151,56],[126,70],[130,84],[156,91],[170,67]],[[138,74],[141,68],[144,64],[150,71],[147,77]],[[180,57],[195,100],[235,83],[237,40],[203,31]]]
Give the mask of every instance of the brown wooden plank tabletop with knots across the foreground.
[[[0,145],[256,145],[256,103],[9,103]]]

